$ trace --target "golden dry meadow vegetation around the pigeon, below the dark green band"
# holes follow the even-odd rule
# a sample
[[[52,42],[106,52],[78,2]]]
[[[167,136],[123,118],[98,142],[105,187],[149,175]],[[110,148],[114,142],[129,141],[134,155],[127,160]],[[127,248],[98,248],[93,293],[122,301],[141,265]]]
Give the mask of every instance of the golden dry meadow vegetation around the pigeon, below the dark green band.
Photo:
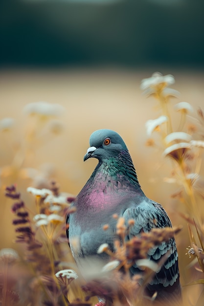
[[[15,74],[8,74],[3,81],[1,305],[92,306],[97,303],[94,296],[100,295],[111,299],[114,306],[126,305],[126,300],[131,306],[139,306],[144,288],[138,285],[139,276],[130,278],[127,273],[130,265],[141,261],[143,282],[148,282],[158,268],[146,261],[148,249],[180,232],[180,225],[182,230],[176,240],[183,305],[203,305],[204,105],[199,99],[192,103],[192,92],[198,91],[196,98],[202,93],[202,79],[194,77],[194,83],[185,79],[186,89],[181,75],[180,80],[176,79],[181,82],[177,86],[180,96],[170,88],[174,84],[171,75],[156,73],[143,79],[141,89],[154,103],[153,109],[148,108],[150,104],[139,88],[135,89],[141,75],[104,72],[59,75],[58,82],[54,74],[45,80],[42,76],[38,80],[37,74],[27,78],[21,74],[19,80]],[[31,85],[33,79],[35,86]],[[43,80],[45,89],[41,85]],[[8,84],[13,84],[11,92]],[[38,88],[35,93],[34,87]],[[32,92],[31,98],[27,91]],[[49,103],[36,103],[39,96]],[[187,102],[182,102],[184,99]],[[174,227],[153,230],[128,243],[124,241],[122,246],[116,240],[115,254],[102,245],[99,252],[109,253],[111,262],[97,272],[96,280],[86,284],[68,248],[65,219],[68,212],[74,213],[69,210],[73,195],[80,191],[94,168],[80,161],[89,146],[90,133],[100,128],[121,134],[145,194],[162,203]],[[127,228],[122,219],[117,224],[118,237],[123,240]],[[103,279],[98,279],[99,275]],[[121,298],[121,291],[126,300]]]

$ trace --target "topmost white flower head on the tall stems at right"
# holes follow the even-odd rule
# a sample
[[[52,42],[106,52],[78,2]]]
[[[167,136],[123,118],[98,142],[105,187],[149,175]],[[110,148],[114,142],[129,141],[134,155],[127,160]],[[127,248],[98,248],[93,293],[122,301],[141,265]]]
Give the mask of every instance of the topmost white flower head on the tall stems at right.
[[[175,83],[173,75],[162,75],[160,72],[153,73],[151,78],[143,79],[141,81],[140,88],[146,90],[151,87],[156,87],[159,84],[163,84],[163,87],[167,87]]]

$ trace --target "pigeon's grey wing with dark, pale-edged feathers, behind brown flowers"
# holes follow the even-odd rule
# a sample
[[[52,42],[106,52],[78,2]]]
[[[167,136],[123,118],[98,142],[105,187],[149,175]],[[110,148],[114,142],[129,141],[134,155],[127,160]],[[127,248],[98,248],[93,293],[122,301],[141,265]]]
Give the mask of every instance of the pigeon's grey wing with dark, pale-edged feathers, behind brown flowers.
[[[152,228],[172,227],[171,221],[162,206],[149,199],[143,201],[137,207],[128,208],[124,212],[123,217],[126,222],[129,219],[135,220],[134,226],[130,228],[128,239],[138,236],[142,231],[148,232]],[[167,288],[167,291],[174,291],[179,286],[178,253],[174,238],[150,249],[147,255],[150,260],[159,262],[162,256],[168,251],[168,259],[148,285],[151,291],[159,291]],[[132,274],[141,273],[136,265],[132,266],[130,271]]]

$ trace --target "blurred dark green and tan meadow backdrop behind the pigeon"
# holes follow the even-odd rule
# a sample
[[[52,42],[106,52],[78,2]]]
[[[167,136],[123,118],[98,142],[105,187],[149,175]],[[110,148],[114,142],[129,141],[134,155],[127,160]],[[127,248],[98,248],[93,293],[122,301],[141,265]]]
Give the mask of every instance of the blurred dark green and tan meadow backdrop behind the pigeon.
[[[5,187],[16,184],[31,219],[37,212],[27,187],[49,188],[56,181],[60,192],[77,195],[97,163],[83,162],[90,134],[105,128],[124,139],[146,196],[163,205],[173,225],[183,226],[176,236],[181,284],[204,278],[190,265],[194,258],[185,255],[192,242],[187,223],[193,218],[204,237],[203,193],[200,216],[193,215],[177,195],[182,183],[175,179],[175,164],[162,155],[161,144],[147,145],[145,123],[162,112],[140,88],[141,80],[155,71],[172,74],[172,88],[180,92],[169,101],[174,131],[181,118],[173,106],[185,101],[193,107],[185,132],[204,140],[198,114],[204,110],[203,12],[200,0],[1,1],[0,249],[13,248],[22,258],[25,250],[15,243]],[[52,109],[43,105],[38,113],[36,102],[47,102]],[[151,138],[158,141],[157,132]],[[200,190],[202,159],[199,149],[189,170],[198,172]],[[67,252],[70,259],[68,246]],[[185,305],[196,305],[202,286],[183,289]]]

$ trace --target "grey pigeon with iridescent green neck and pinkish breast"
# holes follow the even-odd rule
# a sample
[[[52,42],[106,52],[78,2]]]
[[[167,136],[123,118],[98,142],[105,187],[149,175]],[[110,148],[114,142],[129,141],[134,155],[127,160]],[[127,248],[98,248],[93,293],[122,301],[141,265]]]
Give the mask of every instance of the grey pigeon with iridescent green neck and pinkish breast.
[[[152,228],[172,227],[163,207],[145,196],[138,182],[136,170],[122,137],[115,131],[102,129],[90,136],[90,147],[84,161],[96,158],[91,177],[71,203],[75,212],[67,217],[67,237],[72,256],[82,275],[97,267],[100,269],[109,260],[105,253],[98,254],[98,248],[107,243],[114,249],[116,220],[113,215],[124,218],[128,224],[134,220],[126,239],[149,232]],[[155,222],[154,220],[157,220]],[[104,231],[103,226],[109,225]],[[113,250],[114,251],[114,250]],[[167,253],[168,252],[168,253]],[[147,295],[156,291],[157,299],[169,300],[181,297],[178,252],[174,238],[150,250],[149,259],[165,262],[146,286]],[[138,273],[136,265],[130,268],[131,275]],[[96,306],[105,306],[106,301],[99,297]]]

